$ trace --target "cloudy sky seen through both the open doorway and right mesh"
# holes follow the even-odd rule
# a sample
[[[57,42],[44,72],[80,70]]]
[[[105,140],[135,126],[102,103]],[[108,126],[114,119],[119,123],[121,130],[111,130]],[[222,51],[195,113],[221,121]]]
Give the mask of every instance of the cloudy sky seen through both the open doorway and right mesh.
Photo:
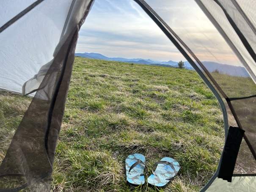
[[[193,0],[146,2],[193,48],[201,61],[239,65],[226,41]],[[95,0],[80,29],[76,52],[160,61],[186,60],[133,0]]]

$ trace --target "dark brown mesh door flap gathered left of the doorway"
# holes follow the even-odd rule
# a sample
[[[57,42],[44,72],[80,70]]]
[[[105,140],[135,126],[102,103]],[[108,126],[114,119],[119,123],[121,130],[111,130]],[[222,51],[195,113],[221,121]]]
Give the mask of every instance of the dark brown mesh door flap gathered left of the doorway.
[[[76,36],[73,37],[71,34],[72,36],[67,38],[56,55],[14,134],[0,166],[2,189],[24,188],[49,176],[52,172],[74,61],[77,33]]]

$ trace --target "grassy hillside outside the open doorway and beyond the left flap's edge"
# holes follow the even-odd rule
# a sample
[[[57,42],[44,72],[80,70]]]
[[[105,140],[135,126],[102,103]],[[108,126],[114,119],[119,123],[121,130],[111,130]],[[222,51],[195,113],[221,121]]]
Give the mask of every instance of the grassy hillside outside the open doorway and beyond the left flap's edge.
[[[0,113],[2,134],[11,138],[29,101],[0,95],[0,112],[13,111],[10,118]],[[52,189],[158,191],[126,184],[125,158],[140,153],[146,178],[165,156],[179,162],[178,176],[162,191],[198,191],[217,169],[223,143],[219,104],[195,71],[76,57]]]

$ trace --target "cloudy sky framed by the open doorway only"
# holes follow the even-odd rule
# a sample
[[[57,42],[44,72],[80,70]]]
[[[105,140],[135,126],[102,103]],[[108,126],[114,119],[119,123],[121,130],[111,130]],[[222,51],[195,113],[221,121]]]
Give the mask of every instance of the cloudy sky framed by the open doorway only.
[[[109,57],[184,59],[134,1],[96,2],[80,30],[76,52],[100,50],[101,54]],[[171,53],[175,58],[171,58]]]

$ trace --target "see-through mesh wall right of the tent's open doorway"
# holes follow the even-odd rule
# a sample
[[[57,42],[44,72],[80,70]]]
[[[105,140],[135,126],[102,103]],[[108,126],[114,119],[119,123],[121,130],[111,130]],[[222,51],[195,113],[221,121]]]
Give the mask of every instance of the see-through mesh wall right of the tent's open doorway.
[[[247,3],[237,3],[235,0],[195,2],[146,0],[163,20],[165,29],[198,61],[195,62],[196,65],[201,62],[199,68],[206,72],[227,99],[228,115],[231,116],[229,120],[235,120],[232,123],[245,130],[245,140],[250,150],[248,147],[241,147],[243,153],[240,150],[239,164],[242,163],[241,157],[248,153],[256,158],[253,127],[256,111],[253,98],[256,95],[253,43],[256,14],[250,8],[254,3],[251,0]]]

